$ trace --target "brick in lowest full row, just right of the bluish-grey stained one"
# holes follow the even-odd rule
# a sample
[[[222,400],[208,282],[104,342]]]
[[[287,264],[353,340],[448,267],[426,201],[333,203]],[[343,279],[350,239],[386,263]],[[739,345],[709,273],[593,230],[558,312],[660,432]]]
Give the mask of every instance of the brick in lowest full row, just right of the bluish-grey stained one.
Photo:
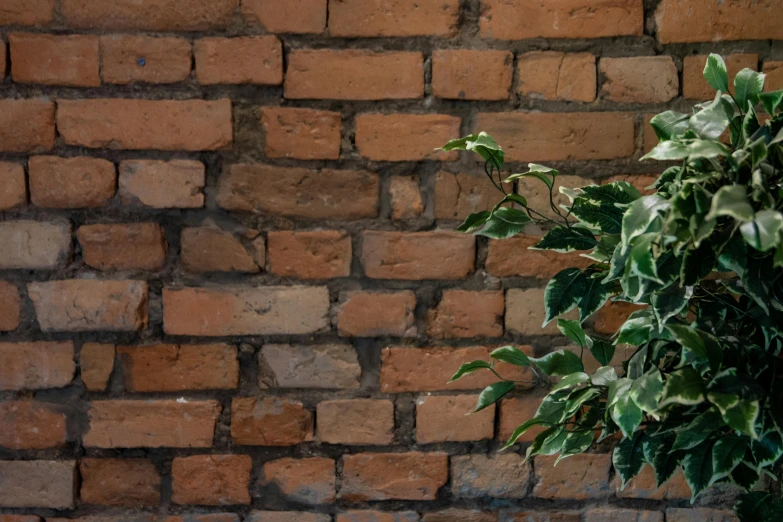
[[[548,499],[586,500],[610,495],[608,454],[580,454],[555,466],[557,457],[536,457],[533,496]]]

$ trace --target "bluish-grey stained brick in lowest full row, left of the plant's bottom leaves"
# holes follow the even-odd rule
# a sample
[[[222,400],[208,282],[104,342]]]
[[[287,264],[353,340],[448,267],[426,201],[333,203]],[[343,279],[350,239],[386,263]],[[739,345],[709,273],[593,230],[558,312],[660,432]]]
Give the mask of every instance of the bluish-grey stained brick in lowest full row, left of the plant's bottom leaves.
[[[530,464],[516,453],[451,457],[451,492],[457,498],[524,498]]]

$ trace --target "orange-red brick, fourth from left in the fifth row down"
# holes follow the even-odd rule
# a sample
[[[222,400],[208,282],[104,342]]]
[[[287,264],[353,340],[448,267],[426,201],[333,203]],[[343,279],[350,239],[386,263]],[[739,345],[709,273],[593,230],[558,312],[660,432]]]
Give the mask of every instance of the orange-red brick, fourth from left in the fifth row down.
[[[351,275],[351,236],[341,230],[269,232],[269,271],[281,277]]]

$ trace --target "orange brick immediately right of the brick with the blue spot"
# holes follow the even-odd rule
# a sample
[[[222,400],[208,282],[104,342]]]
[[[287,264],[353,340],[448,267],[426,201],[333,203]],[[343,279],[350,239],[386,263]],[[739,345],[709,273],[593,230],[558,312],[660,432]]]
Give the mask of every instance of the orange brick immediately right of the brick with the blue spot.
[[[202,85],[283,83],[283,46],[275,36],[202,38],[193,55]]]

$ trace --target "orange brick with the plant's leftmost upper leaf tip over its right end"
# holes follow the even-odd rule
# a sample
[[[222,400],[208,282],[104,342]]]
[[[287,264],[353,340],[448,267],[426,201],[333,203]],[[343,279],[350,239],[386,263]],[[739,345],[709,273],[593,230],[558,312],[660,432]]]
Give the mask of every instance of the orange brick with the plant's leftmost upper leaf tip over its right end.
[[[454,161],[457,152],[435,149],[459,137],[460,123],[445,114],[360,114],[356,148],[374,161]]]

